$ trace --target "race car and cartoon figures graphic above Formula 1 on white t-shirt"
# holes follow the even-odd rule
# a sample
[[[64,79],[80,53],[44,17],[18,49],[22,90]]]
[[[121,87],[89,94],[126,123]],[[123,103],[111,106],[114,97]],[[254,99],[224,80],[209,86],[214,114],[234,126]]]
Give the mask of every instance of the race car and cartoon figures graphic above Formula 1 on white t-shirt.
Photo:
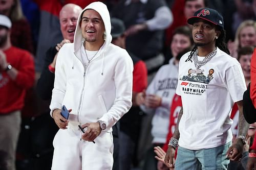
[[[209,74],[207,77],[203,74],[204,70],[202,69],[188,69],[188,74],[186,76],[183,76],[180,78],[180,80],[183,81],[189,81],[189,82],[200,82],[209,84],[209,82],[214,78],[212,74],[214,74],[214,69],[209,69]]]

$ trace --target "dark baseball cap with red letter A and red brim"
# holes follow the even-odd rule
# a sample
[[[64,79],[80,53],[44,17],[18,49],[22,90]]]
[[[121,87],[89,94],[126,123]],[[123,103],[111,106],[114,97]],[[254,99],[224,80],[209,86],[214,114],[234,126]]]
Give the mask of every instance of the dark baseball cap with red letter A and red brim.
[[[207,20],[214,25],[217,25],[224,29],[224,20],[222,15],[211,8],[201,8],[197,12],[195,12],[194,16],[191,16],[187,19],[187,23],[190,25],[193,25],[198,19],[204,19]]]

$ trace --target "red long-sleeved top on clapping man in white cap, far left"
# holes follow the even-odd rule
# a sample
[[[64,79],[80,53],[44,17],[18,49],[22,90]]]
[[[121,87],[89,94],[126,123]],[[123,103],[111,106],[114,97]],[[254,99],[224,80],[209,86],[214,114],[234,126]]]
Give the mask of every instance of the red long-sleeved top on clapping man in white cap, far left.
[[[4,53],[18,74],[11,80],[6,71],[0,72],[0,114],[21,110],[26,89],[32,87],[35,80],[34,60],[29,52],[11,46]]]

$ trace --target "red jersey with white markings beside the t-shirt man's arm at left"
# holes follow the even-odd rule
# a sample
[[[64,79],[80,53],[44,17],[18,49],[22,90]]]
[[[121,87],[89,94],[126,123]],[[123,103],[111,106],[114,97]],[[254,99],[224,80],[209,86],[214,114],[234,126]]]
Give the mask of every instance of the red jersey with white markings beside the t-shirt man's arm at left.
[[[166,142],[163,145],[163,150],[165,152],[168,149],[169,140],[173,136],[173,133],[175,131],[175,127],[177,124],[178,115],[180,113],[181,107],[182,107],[181,96],[175,94],[172,101],[172,106],[170,106],[169,132],[166,137]]]

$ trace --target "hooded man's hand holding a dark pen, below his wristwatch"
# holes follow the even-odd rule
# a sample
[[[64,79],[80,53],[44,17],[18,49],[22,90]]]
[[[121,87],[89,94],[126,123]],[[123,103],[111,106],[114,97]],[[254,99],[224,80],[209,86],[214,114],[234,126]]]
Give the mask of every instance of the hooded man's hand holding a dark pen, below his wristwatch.
[[[87,130],[82,134],[82,139],[87,141],[93,141],[101,133],[101,128],[99,123],[86,123],[82,125],[83,129]]]

